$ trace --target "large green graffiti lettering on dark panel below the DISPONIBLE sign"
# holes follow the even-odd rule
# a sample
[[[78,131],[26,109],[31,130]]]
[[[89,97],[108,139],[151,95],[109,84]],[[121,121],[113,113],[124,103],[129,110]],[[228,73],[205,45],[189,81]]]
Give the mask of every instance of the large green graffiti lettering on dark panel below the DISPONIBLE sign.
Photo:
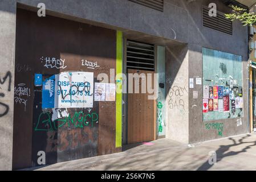
[[[43,112],[38,117],[38,122],[35,127],[35,131],[56,131],[60,127],[66,125],[68,128],[74,126],[75,129],[83,127],[94,127],[98,122],[99,115],[95,112],[91,114],[84,114],[83,111],[75,112],[73,115],[69,114],[68,117],[59,118],[51,121],[51,113]]]

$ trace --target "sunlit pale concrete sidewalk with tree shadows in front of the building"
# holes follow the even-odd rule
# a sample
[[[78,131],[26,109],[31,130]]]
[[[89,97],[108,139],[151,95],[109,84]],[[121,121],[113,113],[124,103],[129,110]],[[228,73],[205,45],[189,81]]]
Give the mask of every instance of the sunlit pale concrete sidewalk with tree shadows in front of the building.
[[[256,134],[194,144],[155,140],[152,146],[124,146],[117,154],[57,163],[36,170],[255,170]],[[216,151],[217,164],[209,165],[209,152]],[[31,170],[33,168],[30,168]]]

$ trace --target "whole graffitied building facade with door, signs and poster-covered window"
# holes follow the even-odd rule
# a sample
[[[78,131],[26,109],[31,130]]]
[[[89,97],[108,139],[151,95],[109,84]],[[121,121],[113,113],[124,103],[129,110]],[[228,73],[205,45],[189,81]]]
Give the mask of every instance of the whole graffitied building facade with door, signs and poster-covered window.
[[[0,169],[249,133],[249,31],[210,3],[1,1]],[[129,73],[152,92],[128,92]]]

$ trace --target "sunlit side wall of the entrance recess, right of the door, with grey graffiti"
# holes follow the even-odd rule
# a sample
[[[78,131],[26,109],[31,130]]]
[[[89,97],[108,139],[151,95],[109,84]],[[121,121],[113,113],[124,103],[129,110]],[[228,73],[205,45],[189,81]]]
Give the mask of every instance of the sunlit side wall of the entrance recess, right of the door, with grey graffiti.
[[[188,45],[166,47],[166,138],[188,143]]]

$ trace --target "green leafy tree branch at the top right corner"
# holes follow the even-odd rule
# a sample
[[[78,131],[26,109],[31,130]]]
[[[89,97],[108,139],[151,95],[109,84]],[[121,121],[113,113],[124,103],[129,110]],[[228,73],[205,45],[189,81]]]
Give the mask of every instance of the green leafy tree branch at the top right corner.
[[[230,19],[231,21],[240,20],[243,23],[243,26],[252,26],[256,23],[256,14],[248,13],[246,9],[242,9],[238,6],[232,6],[232,8],[233,13],[225,14],[227,19]]]

